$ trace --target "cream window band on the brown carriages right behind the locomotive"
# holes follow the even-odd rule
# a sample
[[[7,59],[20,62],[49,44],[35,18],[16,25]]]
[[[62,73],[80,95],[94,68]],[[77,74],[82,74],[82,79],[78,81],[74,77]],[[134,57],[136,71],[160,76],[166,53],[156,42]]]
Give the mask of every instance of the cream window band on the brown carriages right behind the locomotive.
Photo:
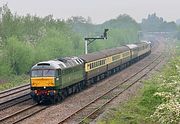
[[[96,61],[86,63],[85,64],[85,71],[89,72],[91,70],[97,69],[97,68],[105,66],[107,64],[110,64],[110,63],[116,62],[118,60],[127,58],[129,56],[130,56],[130,51],[126,51],[123,53],[112,55],[112,56],[107,57],[107,58],[103,58],[103,59],[99,59]]]

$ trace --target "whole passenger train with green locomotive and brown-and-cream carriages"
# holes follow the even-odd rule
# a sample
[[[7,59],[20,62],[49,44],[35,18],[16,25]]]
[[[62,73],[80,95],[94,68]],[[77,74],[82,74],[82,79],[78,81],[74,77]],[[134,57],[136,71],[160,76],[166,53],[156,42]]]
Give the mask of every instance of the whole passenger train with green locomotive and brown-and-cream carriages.
[[[126,68],[151,53],[151,42],[39,62],[31,68],[31,97],[55,103]]]

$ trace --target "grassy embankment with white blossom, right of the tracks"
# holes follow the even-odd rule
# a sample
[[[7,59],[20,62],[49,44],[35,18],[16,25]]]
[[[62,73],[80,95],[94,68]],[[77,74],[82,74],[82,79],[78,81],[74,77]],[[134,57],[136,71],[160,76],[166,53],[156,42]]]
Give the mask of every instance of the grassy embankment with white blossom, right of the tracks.
[[[113,108],[99,124],[178,124],[180,122],[180,43],[168,64],[144,81],[138,95]]]

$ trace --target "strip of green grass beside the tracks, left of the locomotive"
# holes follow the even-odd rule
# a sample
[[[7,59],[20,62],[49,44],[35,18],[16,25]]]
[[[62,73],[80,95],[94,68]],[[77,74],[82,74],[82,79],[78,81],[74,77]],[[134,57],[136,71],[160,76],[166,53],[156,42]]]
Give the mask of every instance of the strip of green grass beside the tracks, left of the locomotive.
[[[2,79],[2,78],[0,78]],[[23,84],[29,83],[29,76],[10,76],[9,78],[3,78],[3,82],[0,83],[0,91],[7,90],[13,87],[17,87]]]

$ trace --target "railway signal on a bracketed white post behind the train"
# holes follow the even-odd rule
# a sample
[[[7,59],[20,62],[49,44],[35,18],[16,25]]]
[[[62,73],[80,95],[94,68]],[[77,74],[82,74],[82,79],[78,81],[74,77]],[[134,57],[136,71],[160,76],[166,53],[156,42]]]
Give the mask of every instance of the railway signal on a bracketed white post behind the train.
[[[84,48],[85,48],[85,54],[88,53],[88,45],[91,44],[92,42],[94,42],[95,40],[105,40],[107,39],[107,31],[109,29],[104,29],[104,33],[103,35],[101,35],[101,37],[86,37],[84,38],[84,41],[85,41],[85,45],[84,45]]]

